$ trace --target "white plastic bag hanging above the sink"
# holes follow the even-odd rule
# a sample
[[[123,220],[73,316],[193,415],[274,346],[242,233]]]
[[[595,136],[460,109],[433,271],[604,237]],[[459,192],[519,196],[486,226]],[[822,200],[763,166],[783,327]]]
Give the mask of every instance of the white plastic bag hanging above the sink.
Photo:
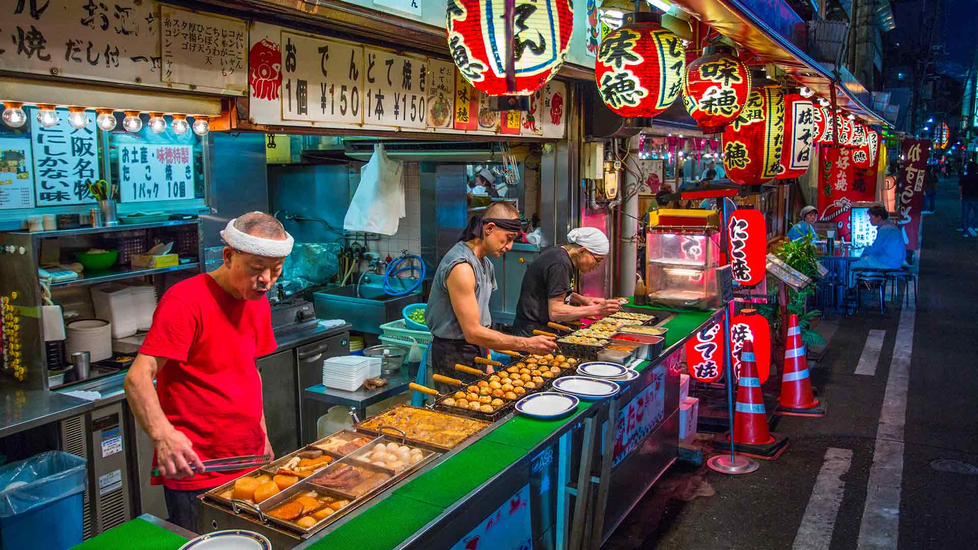
[[[360,172],[360,185],[343,218],[343,229],[380,235],[397,233],[404,206],[404,162],[387,157],[382,145]]]

